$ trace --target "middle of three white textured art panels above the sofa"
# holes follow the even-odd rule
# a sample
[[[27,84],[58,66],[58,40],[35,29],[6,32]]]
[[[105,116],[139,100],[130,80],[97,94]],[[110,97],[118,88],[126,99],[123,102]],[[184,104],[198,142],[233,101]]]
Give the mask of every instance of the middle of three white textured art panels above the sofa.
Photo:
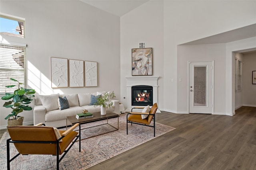
[[[69,86],[84,87],[84,61],[69,59]]]

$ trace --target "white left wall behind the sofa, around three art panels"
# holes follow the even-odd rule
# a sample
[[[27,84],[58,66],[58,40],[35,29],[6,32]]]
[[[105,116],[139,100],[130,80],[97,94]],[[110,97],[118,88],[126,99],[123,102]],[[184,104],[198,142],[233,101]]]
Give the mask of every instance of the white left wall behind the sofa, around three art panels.
[[[0,12],[25,18],[26,38],[1,41],[27,44],[28,88],[38,94],[113,90],[120,99],[120,18],[80,1],[0,1]],[[50,57],[98,62],[98,87],[51,88]],[[0,127],[10,109],[2,107]],[[24,123],[33,121],[24,111]]]

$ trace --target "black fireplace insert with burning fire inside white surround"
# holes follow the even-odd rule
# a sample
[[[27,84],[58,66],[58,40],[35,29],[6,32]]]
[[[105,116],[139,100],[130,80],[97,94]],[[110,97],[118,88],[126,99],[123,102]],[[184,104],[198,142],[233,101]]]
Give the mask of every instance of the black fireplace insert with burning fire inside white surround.
[[[132,106],[152,106],[152,86],[132,86]]]

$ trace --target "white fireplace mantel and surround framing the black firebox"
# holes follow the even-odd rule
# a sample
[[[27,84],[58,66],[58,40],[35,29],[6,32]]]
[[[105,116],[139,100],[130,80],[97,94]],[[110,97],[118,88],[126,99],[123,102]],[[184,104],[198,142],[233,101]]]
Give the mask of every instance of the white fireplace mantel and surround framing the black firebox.
[[[159,76],[132,76],[126,78],[127,88],[127,110],[132,109],[132,86],[152,86],[153,87],[153,104],[158,103],[158,78]]]

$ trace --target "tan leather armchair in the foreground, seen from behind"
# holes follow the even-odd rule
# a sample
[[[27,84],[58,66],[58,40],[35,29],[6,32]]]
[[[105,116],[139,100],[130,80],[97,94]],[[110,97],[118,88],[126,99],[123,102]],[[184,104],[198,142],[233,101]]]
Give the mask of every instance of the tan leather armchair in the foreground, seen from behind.
[[[80,125],[76,123],[66,131],[54,130],[53,127],[41,126],[39,123],[35,126],[12,126],[7,127],[10,139],[7,139],[7,169],[10,170],[10,162],[20,154],[52,154],[57,156],[57,170],[62,158],[79,138],[79,152],[81,151]],[[79,126],[79,133],[73,131]],[[54,132],[55,131],[55,132]],[[58,135],[60,135],[58,137]],[[74,140],[74,141],[73,141]],[[10,159],[10,143],[18,150],[18,154]],[[72,143],[70,145],[70,143]],[[70,145],[70,146],[69,146]],[[69,147],[68,147],[69,146]],[[68,147],[68,148],[67,148]],[[59,155],[64,153],[59,159]]]

